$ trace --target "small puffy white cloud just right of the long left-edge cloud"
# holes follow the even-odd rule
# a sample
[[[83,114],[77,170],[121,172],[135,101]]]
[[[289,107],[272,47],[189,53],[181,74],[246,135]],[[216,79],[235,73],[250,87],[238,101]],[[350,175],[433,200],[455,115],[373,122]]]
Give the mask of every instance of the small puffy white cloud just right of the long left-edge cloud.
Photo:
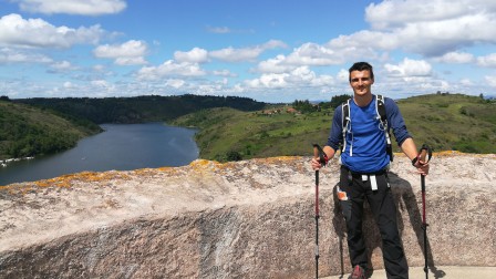
[[[144,55],[148,52],[148,46],[143,41],[131,40],[123,44],[99,45],[93,54],[96,58],[113,59],[117,65],[146,64]]]

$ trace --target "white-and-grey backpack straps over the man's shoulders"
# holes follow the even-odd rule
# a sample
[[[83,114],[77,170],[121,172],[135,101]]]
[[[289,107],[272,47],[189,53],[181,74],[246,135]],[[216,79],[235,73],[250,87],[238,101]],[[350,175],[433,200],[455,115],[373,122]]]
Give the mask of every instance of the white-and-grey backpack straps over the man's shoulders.
[[[350,100],[352,99],[348,99],[347,102],[342,103],[341,105],[341,121],[342,121],[342,133],[343,133],[343,144],[342,144],[342,148],[341,148],[341,153],[344,152],[344,149],[347,148],[347,132],[349,130],[349,126],[351,124],[351,117],[350,117]],[[384,105],[384,96],[383,95],[376,95],[375,97],[375,112],[378,114],[376,118],[381,122],[380,125],[380,130],[384,131],[384,136],[385,136],[385,143],[386,143],[386,153],[388,155],[390,155],[390,159],[391,162],[393,162],[393,147],[391,145],[391,136],[390,136],[390,131],[388,127],[388,115],[386,115],[386,111],[385,111],[385,105]],[[350,147],[350,154],[353,154],[353,146]]]

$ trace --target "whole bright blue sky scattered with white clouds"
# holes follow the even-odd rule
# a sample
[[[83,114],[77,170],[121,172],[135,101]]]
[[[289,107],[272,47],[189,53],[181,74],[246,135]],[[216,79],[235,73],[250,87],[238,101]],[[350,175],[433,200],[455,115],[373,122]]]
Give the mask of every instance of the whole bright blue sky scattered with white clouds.
[[[496,95],[495,0],[0,0],[0,95]]]

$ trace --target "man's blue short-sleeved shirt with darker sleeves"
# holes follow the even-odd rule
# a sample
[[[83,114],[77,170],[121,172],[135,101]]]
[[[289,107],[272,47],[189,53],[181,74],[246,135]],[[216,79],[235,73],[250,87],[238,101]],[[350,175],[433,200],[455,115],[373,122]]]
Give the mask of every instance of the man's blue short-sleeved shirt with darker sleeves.
[[[375,173],[384,169],[390,163],[386,152],[384,131],[378,112],[375,111],[375,95],[364,107],[358,106],[354,101],[350,101],[351,123],[347,132],[345,149],[341,154],[341,164],[353,172]],[[389,128],[393,128],[396,143],[401,146],[404,140],[411,137],[404,124],[403,116],[396,103],[384,99],[388,115]],[[328,144],[334,151],[339,149],[342,143],[342,110],[335,108]]]

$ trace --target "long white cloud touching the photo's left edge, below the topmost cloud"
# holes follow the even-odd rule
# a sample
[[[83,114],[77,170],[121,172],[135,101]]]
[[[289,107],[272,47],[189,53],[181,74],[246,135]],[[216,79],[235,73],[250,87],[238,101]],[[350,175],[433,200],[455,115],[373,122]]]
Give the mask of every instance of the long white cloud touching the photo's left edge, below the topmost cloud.
[[[0,18],[0,45],[70,48],[78,43],[97,43],[103,34],[100,25],[78,29],[54,27],[42,19],[24,20],[16,13]]]

